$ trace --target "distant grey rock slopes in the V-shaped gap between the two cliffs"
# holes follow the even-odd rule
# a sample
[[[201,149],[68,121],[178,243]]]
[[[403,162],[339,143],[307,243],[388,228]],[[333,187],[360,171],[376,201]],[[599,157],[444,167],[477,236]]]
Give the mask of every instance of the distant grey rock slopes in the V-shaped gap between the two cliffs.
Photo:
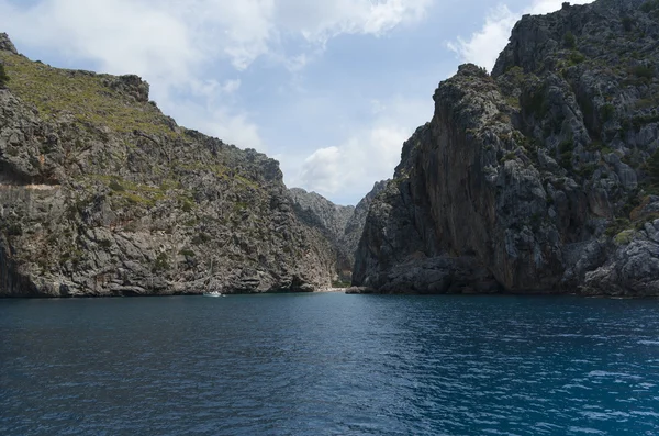
[[[383,181],[376,182],[357,206],[337,205],[315,192],[306,192],[300,188],[290,190],[298,217],[312,228],[317,228],[334,247],[335,282],[351,281],[355,251],[364,231],[368,208],[384,186]]]

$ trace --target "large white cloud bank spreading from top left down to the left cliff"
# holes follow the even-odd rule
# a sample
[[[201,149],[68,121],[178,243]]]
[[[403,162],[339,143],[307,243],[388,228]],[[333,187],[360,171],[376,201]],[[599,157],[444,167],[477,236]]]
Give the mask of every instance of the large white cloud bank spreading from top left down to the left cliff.
[[[339,34],[380,35],[424,16],[434,0],[0,0],[0,29],[19,49],[137,74],[152,98],[187,126],[265,150],[258,127],[233,97],[241,71],[268,57],[292,72]],[[284,42],[302,42],[287,53]],[[216,77],[231,65],[238,78]],[[224,69],[224,75],[226,71]]]

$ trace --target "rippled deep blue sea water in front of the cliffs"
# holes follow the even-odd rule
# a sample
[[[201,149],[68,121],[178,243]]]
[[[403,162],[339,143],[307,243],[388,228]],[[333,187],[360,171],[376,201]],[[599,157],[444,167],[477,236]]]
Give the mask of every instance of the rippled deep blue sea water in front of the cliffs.
[[[658,435],[659,301],[0,301],[0,435]]]

